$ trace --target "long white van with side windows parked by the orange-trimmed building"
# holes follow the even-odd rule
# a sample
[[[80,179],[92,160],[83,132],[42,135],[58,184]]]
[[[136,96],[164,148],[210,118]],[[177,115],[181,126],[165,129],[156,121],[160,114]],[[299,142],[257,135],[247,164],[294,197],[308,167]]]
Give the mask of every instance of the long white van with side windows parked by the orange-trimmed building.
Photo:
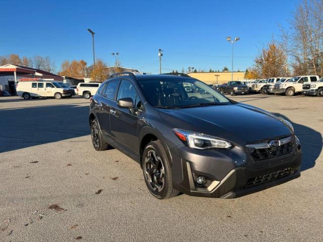
[[[57,82],[48,81],[20,81],[16,85],[17,95],[24,99],[35,97],[71,97],[72,92],[67,88],[63,88]]]

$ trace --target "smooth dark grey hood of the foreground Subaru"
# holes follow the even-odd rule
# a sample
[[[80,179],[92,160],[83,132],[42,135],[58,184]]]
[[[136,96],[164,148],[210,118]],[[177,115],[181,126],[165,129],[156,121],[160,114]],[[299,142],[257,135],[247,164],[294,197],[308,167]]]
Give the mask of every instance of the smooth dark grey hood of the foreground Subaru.
[[[240,103],[159,109],[159,113],[174,128],[227,139],[240,145],[292,134],[273,114]]]

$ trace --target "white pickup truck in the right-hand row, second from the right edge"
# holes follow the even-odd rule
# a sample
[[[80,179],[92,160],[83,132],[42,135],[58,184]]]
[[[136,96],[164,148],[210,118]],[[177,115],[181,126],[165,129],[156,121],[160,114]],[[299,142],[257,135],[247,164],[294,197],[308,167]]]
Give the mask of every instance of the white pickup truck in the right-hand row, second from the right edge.
[[[301,93],[303,90],[303,84],[316,82],[319,79],[318,76],[297,76],[289,79],[284,83],[276,83],[274,86],[275,94],[285,94],[286,96],[294,96],[295,93]]]

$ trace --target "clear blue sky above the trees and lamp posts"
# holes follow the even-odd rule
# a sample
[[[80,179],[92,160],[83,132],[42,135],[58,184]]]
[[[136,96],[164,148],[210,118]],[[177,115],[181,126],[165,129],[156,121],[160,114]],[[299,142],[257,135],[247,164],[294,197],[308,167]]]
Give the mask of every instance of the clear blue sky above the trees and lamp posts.
[[[120,52],[123,66],[158,73],[158,48],[164,50],[163,72],[184,67],[245,70],[273,36],[288,27],[297,0],[290,1],[8,1],[0,8],[0,55],[51,57],[60,70],[65,59],[93,62],[95,54],[113,65]]]

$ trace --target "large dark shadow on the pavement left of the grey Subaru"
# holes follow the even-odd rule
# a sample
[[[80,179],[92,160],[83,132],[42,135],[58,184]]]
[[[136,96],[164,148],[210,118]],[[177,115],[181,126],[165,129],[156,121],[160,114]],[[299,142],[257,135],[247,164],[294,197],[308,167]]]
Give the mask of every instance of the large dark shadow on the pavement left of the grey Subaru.
[[[0,109],[0,153],[90,134],[89,106]]]

